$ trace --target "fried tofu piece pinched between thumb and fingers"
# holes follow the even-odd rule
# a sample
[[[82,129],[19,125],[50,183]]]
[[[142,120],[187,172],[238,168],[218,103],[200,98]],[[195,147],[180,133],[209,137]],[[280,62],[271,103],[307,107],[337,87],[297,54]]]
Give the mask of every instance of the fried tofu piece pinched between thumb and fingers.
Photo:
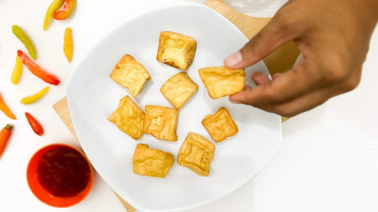
[[[224,66],[198,70],[209,96],[218,99],[244,90],[244,69],[229,69]]]

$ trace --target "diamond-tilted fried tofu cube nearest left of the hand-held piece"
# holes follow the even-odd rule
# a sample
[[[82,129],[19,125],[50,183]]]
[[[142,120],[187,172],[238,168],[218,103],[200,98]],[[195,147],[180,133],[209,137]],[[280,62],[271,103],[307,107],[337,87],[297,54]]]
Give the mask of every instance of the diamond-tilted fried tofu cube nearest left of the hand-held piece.
[[[180,109],[197,89],[198,85],[186,73],[180,72],[168,79],[160,92],[174,108]]]

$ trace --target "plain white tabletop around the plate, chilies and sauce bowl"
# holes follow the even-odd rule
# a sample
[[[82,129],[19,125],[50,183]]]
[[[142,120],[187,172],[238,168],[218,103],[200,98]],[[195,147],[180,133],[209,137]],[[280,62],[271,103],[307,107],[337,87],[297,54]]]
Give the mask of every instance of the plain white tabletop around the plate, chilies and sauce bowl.
[[[0,127],[15,125],[0,159],[0,211],[82,212],[126,211],[110,187],[95,174],[92,191],[79,204],[64,209],[37,200],[26,182],[26,167],[39,148],[63,142],[79,147],[52,105],[65,96],[65,84],[80,59],[103,36],[123,22],[148,11],[184,2],[205,0],[78,0],[73,15],[52,20],[47,31],[42,22],[52,0],[0,0],[0,92],[17,120],[0,113]],[[252,16],[271,17],[286,0],[225,0]],[[47,84],[24,67],[18,85],[10,82],[16,51],[25,47],[12,33],[12,25],[26,31],[36,46],[37,63],[59,76],[40,101],[22,105],[19,100]],[[63,33],[71,27],[74,55],[63,54]],[[360,86],[309,112],[284,122],[283,143],[268,165],[250,182],[227,197],[193,212],[377,212],[378,211],[378,30],[363,66]],[[44,126],[35,135],[25,112]]]

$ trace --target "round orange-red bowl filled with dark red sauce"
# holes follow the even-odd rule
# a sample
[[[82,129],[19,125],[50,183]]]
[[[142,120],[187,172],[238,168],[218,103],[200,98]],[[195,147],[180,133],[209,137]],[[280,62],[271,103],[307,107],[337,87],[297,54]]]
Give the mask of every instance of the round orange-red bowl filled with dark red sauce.
[[[26,178],[33,195],[43,203],[70,207],[91,191],[93,167],[84,152],[68,144],[42,147],[31,157]]]

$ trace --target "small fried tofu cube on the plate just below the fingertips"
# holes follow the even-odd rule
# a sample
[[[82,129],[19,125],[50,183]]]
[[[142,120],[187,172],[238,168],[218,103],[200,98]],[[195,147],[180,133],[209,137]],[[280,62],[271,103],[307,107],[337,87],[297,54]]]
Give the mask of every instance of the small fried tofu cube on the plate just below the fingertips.
[[[224,107],[220,107],[214,115],[205,116],[202,120],[202,125],[204,125],[215,142],[221,142],[239,132],[235,121]]]

